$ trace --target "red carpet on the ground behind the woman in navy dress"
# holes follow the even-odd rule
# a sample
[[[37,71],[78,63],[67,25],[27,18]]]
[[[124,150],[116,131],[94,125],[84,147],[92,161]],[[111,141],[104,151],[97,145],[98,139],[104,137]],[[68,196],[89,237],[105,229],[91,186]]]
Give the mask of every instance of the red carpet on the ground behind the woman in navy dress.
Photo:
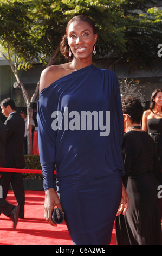
[[[12,191],[7,201],[16,205]],[[8,217],[0,216],[0,245],[73,245],[66,224],[52,227],[43,215],[44,191],[25,191],[25,219],[18,221],[16,229]],[[111,245],[116,245],[115,228]]]

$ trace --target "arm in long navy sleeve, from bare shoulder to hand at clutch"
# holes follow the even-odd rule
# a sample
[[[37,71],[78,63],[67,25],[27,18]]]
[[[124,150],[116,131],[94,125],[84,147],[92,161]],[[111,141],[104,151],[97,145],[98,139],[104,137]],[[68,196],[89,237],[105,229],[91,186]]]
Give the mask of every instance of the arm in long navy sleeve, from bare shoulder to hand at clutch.
[[[55,167],[55,141],[57,133],[51,128],[51,109],[49,108],[48,93],[42,92],[54,82],[54,66],[43,70],[40,78],[40,99],[38,101],[38,140],[40,162],[43,174],[43,187],[45,191],[44,213],[46,220],[51,225],[56,225],[51,219],[55,206],[62,210],[57,192],[54,190],[54,167]],[[51,105],[50,105],[51,106]],[[54,109],[55,111],[55,105]]]

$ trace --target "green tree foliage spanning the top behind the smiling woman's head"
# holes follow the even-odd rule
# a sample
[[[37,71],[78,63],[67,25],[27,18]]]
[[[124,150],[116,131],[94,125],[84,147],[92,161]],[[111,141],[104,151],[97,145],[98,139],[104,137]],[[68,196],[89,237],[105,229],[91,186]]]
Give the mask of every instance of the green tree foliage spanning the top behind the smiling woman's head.
[[[149,4],[155,6],[156,1],[2,0],[1,45],[5,50],[10,47],[12,56],[16,51],[21,68],[29,68],[34,60],[47,64],[59,53],[68,20],[83,14],[92,17],[98,28],[95,59],[109,59],[112,64],[120,60],[130,70],[150,69],[162,41],[162,11],[148,9]]]

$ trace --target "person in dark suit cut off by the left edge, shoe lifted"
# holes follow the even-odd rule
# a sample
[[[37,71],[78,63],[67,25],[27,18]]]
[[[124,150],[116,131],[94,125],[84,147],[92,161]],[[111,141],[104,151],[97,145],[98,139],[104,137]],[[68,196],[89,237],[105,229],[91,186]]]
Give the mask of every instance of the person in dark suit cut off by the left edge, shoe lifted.
[[[5,145],[7,141],[7,127],[4,123],[0,120],[0,167],[4,167],[5,164]],[[1,179],[0,173],[0,179]],[[0,211],[3,214],[13,221],[13,228],[16,228],[17,221],[18,221],[18,211],[19,206],[14,206],[9,204],[6,200],[3,199],[3,187],[0,190]]]

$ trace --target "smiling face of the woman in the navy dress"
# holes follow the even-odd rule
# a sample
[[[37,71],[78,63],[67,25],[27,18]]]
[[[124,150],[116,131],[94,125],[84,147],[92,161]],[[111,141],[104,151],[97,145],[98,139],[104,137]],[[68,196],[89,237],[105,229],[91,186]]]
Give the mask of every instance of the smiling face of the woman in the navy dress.
[[[68,44],[76,59],[92,58],[93,45],[97,40],[93,28],[86,21],[73,21],[68,28]]]

